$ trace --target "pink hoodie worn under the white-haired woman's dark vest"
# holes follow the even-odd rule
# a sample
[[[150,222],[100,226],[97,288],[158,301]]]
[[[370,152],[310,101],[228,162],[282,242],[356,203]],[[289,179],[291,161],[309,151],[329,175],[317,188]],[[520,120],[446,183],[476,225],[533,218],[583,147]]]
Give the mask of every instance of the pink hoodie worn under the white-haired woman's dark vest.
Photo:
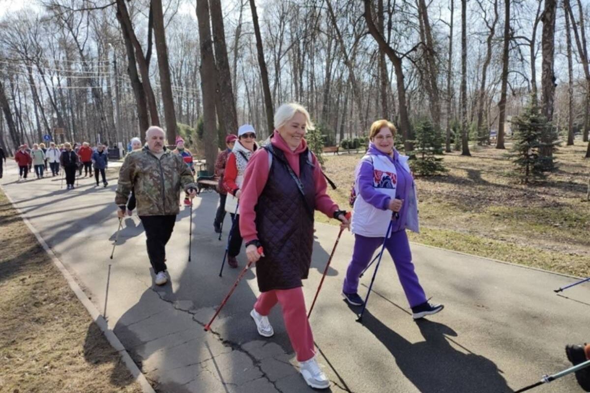
[[[277,130],[274,130],[273,137],[271,137],[270,141],[273,147],[280,148],[283,151],[287,162],[289,162],[289,166],[299,176],[299,154],[306,150],[307,142],[302,139],[299,147],[295,151],[291,151]],[[313,154],[312,156],[315,166],[313,169],[313,180],[316,184],[316,210],[333,218],[334,212],[338,210],[338,205],[326,194],[326,179],[322,175],[322,170],[320,169],[320,164],[317,162],[316,156]],[[248,162],[244,173],[244,183],[242,183],[242,193],[240,195],[240,233],[245,242],[258,239],[254,207],[258,203],[258,197],[264,190],[267,180],[268,152],[260,148]]]

